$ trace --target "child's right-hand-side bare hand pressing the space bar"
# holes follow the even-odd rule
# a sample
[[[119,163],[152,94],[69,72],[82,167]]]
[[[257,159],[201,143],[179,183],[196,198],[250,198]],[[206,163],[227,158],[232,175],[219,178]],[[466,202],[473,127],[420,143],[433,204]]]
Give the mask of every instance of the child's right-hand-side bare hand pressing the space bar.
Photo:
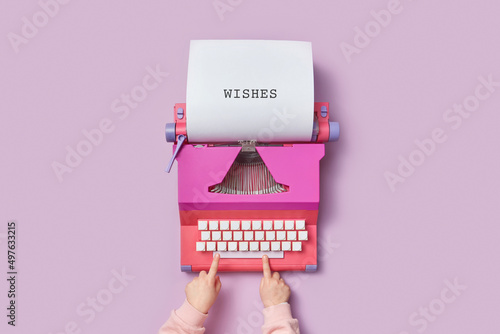
[[[280,278],[279,272],[271,275],[271,267],[269,267],[269,258],[267,255],[262,257],[262,266],[264,268],[264,277],[260,281],[260,299],[262,299],[264,307],[288,302],[290,287],[285,284],[283,278]]]

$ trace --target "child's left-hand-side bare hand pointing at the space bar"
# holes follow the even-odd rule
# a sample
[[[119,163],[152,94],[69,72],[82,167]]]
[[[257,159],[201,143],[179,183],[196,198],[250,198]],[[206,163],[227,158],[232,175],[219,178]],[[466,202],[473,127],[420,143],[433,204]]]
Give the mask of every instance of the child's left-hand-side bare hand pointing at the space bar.
[[[215,276],[219,267],[219,259],[220,255],[216,254],[208,274],[203,270],[198,277],[186,285],[187,301],[201,313],[208,313],[222,286],[219,276]]]

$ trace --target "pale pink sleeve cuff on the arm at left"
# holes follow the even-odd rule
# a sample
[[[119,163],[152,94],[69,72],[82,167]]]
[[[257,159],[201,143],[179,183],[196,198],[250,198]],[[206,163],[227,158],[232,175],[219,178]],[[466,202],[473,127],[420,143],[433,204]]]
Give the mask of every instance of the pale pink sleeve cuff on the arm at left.
[[[201,313],[185,300],[181,307],[172,311],[158,334],[203,334],[203,323],[207,316],[208,314]]]

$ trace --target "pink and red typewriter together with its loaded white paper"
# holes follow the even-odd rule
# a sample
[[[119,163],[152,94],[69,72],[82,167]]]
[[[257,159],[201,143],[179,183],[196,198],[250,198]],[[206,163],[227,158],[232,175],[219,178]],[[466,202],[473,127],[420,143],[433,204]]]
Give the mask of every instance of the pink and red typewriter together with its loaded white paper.
[[[309,42],[191,41],[186,103],[166,126],[177,160],[181,270],[317,270],[319,162],[337,140],[314,102]]]

